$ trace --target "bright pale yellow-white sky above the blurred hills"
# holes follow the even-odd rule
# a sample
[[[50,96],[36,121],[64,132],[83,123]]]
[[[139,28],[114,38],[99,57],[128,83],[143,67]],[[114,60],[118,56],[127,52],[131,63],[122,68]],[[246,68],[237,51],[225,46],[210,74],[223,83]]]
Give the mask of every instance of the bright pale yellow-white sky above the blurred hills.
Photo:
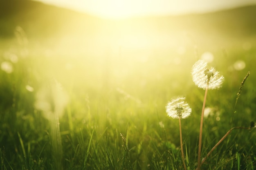
[[[256,0],[38,0],[103,18],[202,13],[256,4]]]

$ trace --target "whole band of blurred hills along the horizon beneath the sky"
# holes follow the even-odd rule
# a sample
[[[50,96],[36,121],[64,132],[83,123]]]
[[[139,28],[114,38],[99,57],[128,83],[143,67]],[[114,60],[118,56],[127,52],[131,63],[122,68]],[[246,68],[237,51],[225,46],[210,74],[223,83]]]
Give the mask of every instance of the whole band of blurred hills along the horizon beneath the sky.
[[[108,32],[108,29],[113,27],[122,29],[126,26],[131,26],[131,29],[146,26],[152,31],[193,30],[202,33],[221,32],[244,36],[255,34],[254,16],[256,16],[256,6],[206,14],[152,16],[110,21],[41,2],[8,0],[0,2],[0,36],[12,35],[17,25],[33,36],[52,35],[60,31],[68,32],[71,27],[83,33],[90,33],[97,30]]]

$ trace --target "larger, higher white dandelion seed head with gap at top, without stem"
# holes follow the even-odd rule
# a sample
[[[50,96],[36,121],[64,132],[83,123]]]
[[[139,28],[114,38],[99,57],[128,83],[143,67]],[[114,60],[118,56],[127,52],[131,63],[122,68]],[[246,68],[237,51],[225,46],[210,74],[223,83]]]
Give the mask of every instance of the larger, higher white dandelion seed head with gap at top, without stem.
[[[192,67],[192,78],[195,85],[203,89],[216,89],[222,86],[224,77],[215,68],[207,67],[207,62],[198,60]]]

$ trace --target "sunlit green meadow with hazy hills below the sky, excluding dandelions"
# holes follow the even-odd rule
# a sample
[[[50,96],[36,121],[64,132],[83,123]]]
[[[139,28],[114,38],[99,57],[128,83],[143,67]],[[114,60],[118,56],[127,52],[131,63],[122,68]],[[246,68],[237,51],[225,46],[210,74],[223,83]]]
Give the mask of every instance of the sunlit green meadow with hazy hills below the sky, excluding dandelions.
[[[15,3],[14,3],[15,2]],[[225,77],[209,90],[202,158],[256,121],[256,6],[107,20],[29,0],[0,2],[1,170],[195,170],[202,59]],[[241,82],[247,73],[250,75]],[[239,98],[238,98],[239,97]],[[203,170],[255,170],[255,129],[234,129]]]

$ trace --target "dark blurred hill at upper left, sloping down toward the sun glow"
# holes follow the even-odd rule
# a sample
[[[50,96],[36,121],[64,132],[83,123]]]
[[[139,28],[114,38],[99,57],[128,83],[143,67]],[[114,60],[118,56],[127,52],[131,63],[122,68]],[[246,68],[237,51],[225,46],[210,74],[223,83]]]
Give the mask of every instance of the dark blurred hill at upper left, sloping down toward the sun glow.
[[[62,31],[68,32],[70,26],[78,22],[87,23],[85,32],[90,33],[94,20],[99,19],[41,2],[0,1],[0,37],[13,36],[16,26],[21,26],[29,37],[53,36]]]

